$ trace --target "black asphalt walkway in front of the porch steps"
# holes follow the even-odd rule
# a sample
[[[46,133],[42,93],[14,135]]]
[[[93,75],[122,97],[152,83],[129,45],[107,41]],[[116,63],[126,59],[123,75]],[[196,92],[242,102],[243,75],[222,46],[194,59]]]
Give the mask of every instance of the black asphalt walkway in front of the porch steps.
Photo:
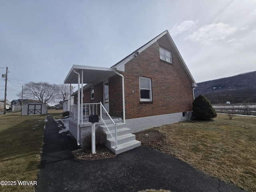
[[[47,116],[41,170],[36,192],[242,192],[231,184],[199,172],[190,165],[152,148],[140,146],[103,160],[78,160],[70,149],[75,142],[58,134]]]

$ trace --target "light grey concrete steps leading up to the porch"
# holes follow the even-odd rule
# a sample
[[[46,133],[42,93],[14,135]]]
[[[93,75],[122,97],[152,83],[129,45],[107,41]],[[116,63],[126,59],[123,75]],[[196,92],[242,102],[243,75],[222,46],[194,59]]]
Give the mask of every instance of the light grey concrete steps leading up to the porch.
[[[126,124],[118,122],[117,126],[117,148],[116,143],[111,137],[105,125],[99,126],[99,129],[106,132],[107,140],[105,145],[114,154],[120,154],[122,152],[128,151],[130,149],[136,148],[141,145],[140,141],[136,140],[136,136],[130,133],[130,129],[126,128]],[[114,133],[113,133],[114,134]]]

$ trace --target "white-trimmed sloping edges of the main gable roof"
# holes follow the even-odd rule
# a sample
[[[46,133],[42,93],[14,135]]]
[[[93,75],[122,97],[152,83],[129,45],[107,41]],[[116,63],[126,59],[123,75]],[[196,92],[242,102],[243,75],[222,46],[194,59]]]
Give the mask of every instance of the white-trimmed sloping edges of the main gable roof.
[[[184,62],[180,52],[178,51],[178,48],[174,44],[174,41],[172,40],[172,37],[170,36],[168,30],[165,30],[164,32],[162,32],[160,35],[156,36],[154,39],[150,40],[149,42],[147,42],[146,44],[144,44],[143,46],[141,46],[140,48],[138,48],[137,50],[132,52],[130,55],[128,55],[125,58],[123,58],[122,60],[120,60],[118,63],[114,64],[111,68],[116,68],[116,70],[124,71],[124,65],[127,62],[129,62],[130,60],[132,60],[132,58],[135,57],[135,54],[137,54],[137,55],[140,54],[140,52],[144,51],[146,48],[148,48],[149,46],[154,44],[158,39],[160,39],[164,35],[166,35],[168,41],[170,42],[172,48],[174,49],[174,52],[177,55],[180,63],[182,64],[182,67],[184,68],[186,74],[188,75],[190,81],[192,82],[192,86],[196,87],[196,81],[194,80],[194,78],[192,77],[190,71],[188,70],[188,67],[186,66],[186,64],[185,64],[185,62]]]

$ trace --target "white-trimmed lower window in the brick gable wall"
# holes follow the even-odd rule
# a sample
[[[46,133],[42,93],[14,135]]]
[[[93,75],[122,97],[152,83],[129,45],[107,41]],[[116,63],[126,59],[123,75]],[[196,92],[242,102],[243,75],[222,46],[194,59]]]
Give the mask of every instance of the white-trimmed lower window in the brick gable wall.
[[[152,101],[150,78],[140,77],[140,101]]]

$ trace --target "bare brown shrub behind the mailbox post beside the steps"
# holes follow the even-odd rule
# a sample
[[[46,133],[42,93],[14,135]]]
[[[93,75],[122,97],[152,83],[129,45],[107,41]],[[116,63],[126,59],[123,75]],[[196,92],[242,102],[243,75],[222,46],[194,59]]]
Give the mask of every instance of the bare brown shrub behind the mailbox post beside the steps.
[[[104,142],[107,140],[106,134],[104,131],[96,130],[95,132],[95,145],[96,147],[104,146]],[[85,147],[92,146],[92,133],[88,132],[84,134],[84,138],[82,140],[82,143],[85,145]]]

